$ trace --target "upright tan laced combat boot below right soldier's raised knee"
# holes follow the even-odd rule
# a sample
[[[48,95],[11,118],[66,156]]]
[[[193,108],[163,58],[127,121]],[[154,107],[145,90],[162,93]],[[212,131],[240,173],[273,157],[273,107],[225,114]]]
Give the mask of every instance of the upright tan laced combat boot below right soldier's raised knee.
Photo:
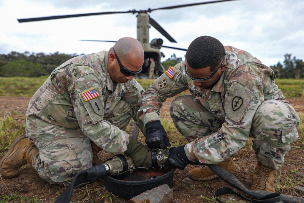
[[[264,190],[268,192],[275,192],[275,170],[257,163],[257,167],[252,173],[252,186],[251,190]]]

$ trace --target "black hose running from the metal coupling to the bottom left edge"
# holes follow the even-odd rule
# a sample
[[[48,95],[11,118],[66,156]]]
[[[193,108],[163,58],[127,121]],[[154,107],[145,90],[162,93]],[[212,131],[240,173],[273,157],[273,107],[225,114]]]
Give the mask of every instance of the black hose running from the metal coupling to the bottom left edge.
[[[71,184],[65,189],[65,191],[63,191],[63,193],[57,198],[54,203],[70,202],[74,187],[85,182],[95,181],[98,178],[104,177],[106,175],[108,175],[108,172],[103,164],[93,166],[92,168],[77,173]]]

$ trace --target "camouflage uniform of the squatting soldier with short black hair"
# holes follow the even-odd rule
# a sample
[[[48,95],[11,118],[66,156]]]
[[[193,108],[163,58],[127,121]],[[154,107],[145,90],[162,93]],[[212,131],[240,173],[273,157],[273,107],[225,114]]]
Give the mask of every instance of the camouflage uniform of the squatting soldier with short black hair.
[[[194,86],[185,74],[185,61],[181,61],[171,74],[161,75],[143,93],[137,117],[143,124],[160,120],[166,98],[188,89],[191,95],[178,96],[170,114],[190,142],[185,146],[189,160],[222,162],[244,147],[251,136],[257,160],[277,170],[290,143],[299,139],[299,116],[278,89],[270,68],[246,51],[225,46],[225,52],[225,71],[211,90]]]

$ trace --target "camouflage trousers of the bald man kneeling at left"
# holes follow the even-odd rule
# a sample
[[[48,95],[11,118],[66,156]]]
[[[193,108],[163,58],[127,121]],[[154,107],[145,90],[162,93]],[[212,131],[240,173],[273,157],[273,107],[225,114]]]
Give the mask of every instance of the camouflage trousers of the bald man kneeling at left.
[[[104,120],[125,130],[132,116],[133,110],[129,104],[120,100],[117,107],[104,116]],[[92,147],[85,135],[33,142],[39,149],[39,154],[33,158],[33,167],[43,180],[51,184],[69,185],[78,172],[92,167]]]

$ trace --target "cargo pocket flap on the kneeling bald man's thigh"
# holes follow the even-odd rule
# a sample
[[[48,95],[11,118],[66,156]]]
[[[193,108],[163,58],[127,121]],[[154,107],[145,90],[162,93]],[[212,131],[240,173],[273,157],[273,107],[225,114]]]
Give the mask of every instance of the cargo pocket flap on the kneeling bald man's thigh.
[[[77,159],[73,144],[61,144],[39,149],[41,161],[65,161]]]

